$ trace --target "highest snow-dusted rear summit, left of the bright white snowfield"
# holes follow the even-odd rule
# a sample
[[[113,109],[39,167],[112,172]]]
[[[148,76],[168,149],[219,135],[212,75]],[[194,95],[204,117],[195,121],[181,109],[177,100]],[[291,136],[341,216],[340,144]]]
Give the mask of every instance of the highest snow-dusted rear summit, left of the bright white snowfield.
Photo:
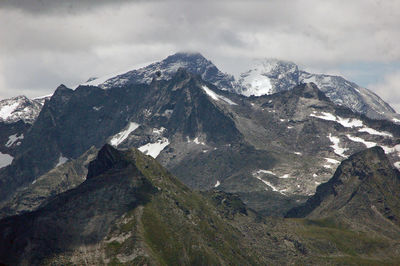
[[[185,68],[190,73],[200,75],[202,79],[213,83],[220,89],[230,90],[233,88],[233,76],[219,71],[211,61],[199,53],[176,53],[146,67],[122,73],[108,79],[90,79],[89,82],[83,85],[93,85],[109,89],[128,84],[149,84],[153,78],[171,79],[179,68]]]

